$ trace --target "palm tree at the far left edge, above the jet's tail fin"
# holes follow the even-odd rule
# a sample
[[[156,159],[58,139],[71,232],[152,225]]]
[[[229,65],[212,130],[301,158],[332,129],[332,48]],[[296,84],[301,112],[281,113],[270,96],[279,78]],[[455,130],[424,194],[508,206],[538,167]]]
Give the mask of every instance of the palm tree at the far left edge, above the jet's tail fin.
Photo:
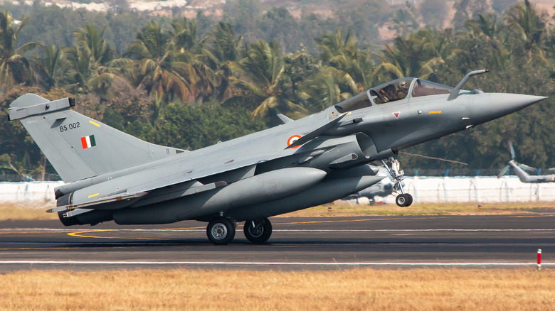
[[[31,61],[25,54],[36,48],[38,43],[30,42],[16,48],[17,37],[27,21],[28,18],[23,17],[17,25],[7,10],[0,13],[0,84],[3,89],[12,87],[14,84],[34,82]]]

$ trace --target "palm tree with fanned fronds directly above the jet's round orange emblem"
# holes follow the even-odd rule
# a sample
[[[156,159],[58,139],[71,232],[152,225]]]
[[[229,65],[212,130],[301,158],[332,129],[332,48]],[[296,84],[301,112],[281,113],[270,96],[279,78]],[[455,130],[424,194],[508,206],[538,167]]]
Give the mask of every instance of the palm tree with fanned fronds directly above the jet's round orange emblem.
[[[285,111],[305,111],[304,108],[293,104],[282,96],[282,82],[284,80],[284,64],[277,43],[266,43],[259,40],[248,49],[247,56],[239,62],[230,65],[237,77],[230,77],[235,87],[244,94],[253,97],[258,106],[253,110],[253,117],[265,116],[270,109]],[[236,97],[227,102],[235,102]]]

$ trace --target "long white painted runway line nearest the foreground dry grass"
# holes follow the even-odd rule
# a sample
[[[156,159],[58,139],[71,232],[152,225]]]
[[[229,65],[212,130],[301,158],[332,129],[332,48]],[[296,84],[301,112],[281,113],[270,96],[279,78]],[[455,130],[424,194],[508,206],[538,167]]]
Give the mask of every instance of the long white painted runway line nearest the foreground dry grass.
[[[537,263],[392,263],[392,262],[246,262],[246,261],[0,261],[0,264],[64,264],[64,265],[211,265],[211,266],[537,266]],[[542,266],[555,266],[555,263],[541,263]]]

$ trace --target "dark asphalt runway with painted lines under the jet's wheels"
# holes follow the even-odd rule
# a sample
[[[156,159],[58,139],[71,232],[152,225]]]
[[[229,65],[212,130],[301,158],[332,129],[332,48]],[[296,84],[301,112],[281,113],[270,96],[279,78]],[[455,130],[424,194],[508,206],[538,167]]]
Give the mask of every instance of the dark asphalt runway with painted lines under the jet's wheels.
[[[0,271],[217,268],[320,270],[354,267],[555,266],[555,214],[277,218],[267,244],[237,227],[215,246],[203,222],[63,227],[0,222]]]

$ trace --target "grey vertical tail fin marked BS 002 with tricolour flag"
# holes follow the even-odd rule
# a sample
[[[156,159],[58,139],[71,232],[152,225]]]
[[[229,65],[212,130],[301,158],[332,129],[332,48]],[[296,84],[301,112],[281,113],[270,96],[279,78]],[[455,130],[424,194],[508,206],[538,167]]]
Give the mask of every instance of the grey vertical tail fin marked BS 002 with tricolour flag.
[[[72,98],[48,101],[25,94],[10,104],[64,182],[102,175],[183,151],[147,143],[79,114]]]

